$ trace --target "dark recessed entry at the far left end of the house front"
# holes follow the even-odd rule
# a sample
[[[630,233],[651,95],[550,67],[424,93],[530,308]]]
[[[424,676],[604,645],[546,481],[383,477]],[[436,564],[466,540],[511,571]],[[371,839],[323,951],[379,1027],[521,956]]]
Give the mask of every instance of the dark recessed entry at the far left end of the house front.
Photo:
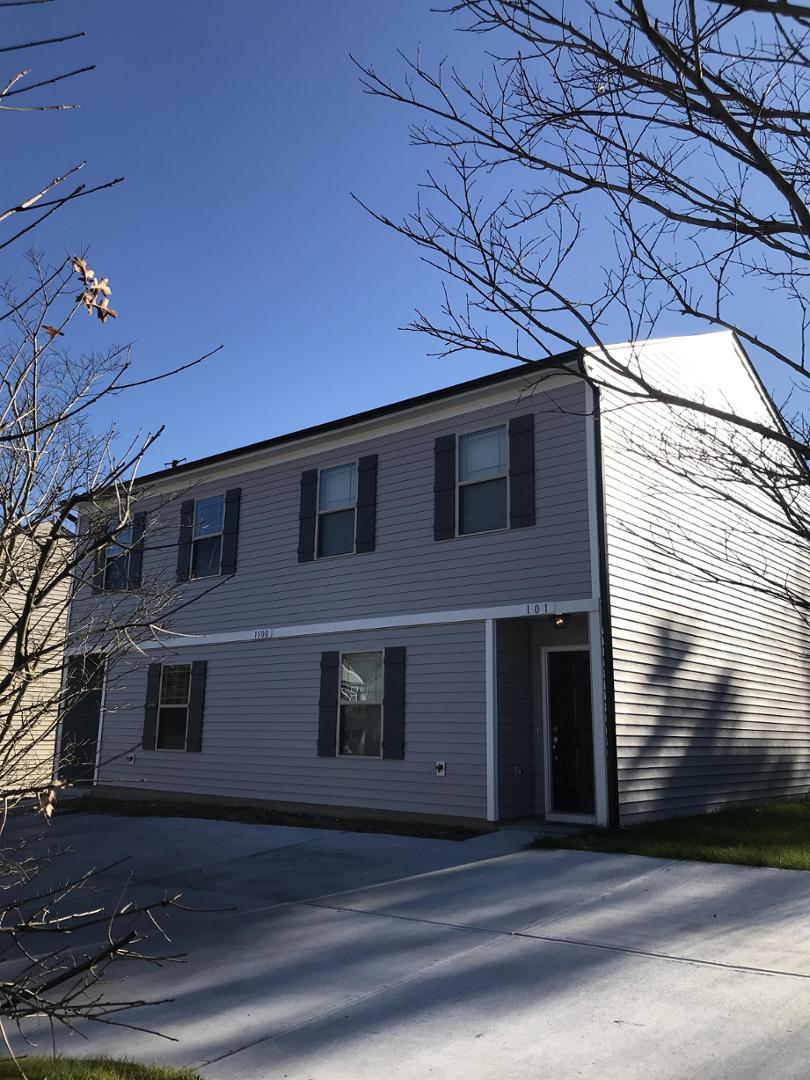
[[[59,778],[70,784],[91,783],[102,717],[104,658],[98,653],[68,657],[65,688],[67,704],[62,715]]]

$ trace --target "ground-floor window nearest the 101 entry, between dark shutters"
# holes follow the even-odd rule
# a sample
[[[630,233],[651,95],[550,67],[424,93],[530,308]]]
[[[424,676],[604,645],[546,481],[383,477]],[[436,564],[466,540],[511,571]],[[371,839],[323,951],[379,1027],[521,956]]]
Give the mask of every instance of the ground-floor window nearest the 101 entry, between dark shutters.
[[[338,690],[338,754],[382,754],[382,653],[343,652]]]

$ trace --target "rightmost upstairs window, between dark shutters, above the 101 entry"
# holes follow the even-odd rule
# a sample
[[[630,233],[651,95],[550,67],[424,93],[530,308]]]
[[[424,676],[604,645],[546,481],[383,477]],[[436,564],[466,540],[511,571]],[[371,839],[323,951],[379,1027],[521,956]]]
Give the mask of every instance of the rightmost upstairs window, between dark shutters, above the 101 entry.
[[[458,531],[505,529],[509,443],[505,427],[460,435],[458,441]]]

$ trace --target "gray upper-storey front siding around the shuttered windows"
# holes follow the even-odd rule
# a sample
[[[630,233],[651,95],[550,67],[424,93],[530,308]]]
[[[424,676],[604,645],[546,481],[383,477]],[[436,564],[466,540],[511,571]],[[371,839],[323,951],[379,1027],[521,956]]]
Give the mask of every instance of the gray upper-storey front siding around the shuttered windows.
[[[501,389],[502,392],[502,389]],[[241,487],[237,573],[179,586],[186,604],[173,629],[197,633],[324,622],[363,616],[442,611],[591,595],[584,386],[526,393],[350,447],[237,470],[177,490],[150,515],[144,581],[175,573],[179,504]],[[433,538],[433,444],[437,435],[474,431],[534,413],[537,524],[455,540]],[[378,455],[376,550],[299,563],[301,472]],[[145,500],[154,507],[158,496]],[[213,588],[212,588],[213,586]],[[197,599],[194,599],[197,597]],[[73,618],[104,597],[80,595]]]

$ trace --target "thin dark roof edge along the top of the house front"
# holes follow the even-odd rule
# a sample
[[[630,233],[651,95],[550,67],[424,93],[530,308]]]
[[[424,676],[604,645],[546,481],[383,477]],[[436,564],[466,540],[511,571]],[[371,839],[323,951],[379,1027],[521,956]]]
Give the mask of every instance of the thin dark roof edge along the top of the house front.
[[[477,379],[469,379],[467,382],[456,382],[453,386],[444,387],[441,390],[431,390],[429,393],[418,394],[416,397],[405,397],[402,401],[392,402],[390,405],[380,405],[377,408],[367,409],[364,413],[354,413],[351,416],[345,416],[336,420],[327,420],[324,423],[313,424],[311,428],[300,428],[298,431],[291,431],[283,435],[274,435],[272,438],[265,438],[258,443],[247,443],[245,446],[237,446],[233,449],[222,450],[219,454],[211,454],[204,458],[194,458],[193,461],[187,461],[183,464],[175,465],[174,468],[170,467],[168,469],[161,469],[158,472],[147,473],[136,481],[136,485],[140,486],[143,484],[154,483],[170,476],[181,476],[184,473],[193,472],[198,469],[204,469],[210,465],[217,465],[222,462],[230,461],[231,459],[239,458],[243,455],[275,449],[276,447],[295,443],[298,440],[311,438],[314,435],[325,435],[330,432],[340,431],[345,428],[351,428],[353,424],[363,423],[368,420],[384,419],[388,416],[395,416],[396,414],[404,413],[407,409],[455,397],[457,394],[468,393],[473,390],[482,390],[487,387],[495,387],[501,382],[509,382],[517,376],[525,376],[532,372],[569,366],[581,361],[583,355],[583,349],[571,349],[568,352],[562,352],[554,356],[536,361],[531,364],[519,364],[517,367],[508,367],[502,372],[495,372],[491,375],[483,375]]]

